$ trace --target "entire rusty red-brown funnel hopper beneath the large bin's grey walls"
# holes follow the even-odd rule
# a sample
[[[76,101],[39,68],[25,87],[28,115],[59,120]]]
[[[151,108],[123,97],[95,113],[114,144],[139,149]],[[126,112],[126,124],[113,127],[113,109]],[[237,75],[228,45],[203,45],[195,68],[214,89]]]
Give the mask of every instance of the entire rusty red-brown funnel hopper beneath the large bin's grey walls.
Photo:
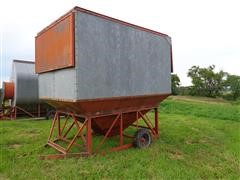
[[[137,117],[136,111],[146,109],[142,111],[145,114],[149,109],[157,107],[168,96],[169,94],[158,94],[77,101],[49,98],[44,98],[43,100],[58,111],[79,115],[79,121],[83,121],[85,117],[91,117],[93,131],[97,134],[105,134],[116,118],[117,113],[123,113],[123,129],[126,129],[140,118]],[[119,124],[115,124],[109,136],[118,134]]]

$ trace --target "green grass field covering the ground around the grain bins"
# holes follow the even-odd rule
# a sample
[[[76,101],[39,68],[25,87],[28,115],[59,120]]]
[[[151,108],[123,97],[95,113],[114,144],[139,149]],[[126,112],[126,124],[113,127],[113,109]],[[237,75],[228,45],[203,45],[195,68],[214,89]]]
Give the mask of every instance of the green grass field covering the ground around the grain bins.
[[[170,97],[159,117],[160,138],[147,149],[44,161],[51,121],[1,121],[0,179],[239,179],[239,104]]]

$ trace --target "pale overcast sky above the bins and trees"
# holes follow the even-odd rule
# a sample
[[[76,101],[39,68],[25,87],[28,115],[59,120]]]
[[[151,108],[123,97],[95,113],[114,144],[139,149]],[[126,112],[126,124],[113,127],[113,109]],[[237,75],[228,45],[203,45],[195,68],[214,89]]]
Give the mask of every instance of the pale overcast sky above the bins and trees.
[[[37,33],[74,6],[168,34],[183,86],[193,65],[240,75],[239,0],[0,0],[1,81],[13,59],[34,60]]]

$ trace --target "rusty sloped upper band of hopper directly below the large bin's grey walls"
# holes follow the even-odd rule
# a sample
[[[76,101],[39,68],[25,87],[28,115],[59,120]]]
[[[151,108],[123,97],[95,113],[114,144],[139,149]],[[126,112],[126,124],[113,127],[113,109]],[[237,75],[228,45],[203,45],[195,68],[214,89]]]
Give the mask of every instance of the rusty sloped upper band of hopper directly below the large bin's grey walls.
[[[170,94],[156,94],[79,101],[61,101],[60,99],[49,98],[43,98],[43,100],[60,111],[73,112],[83,116],[95,116],[153,108],[158,106],[158,104],[169,95]]]

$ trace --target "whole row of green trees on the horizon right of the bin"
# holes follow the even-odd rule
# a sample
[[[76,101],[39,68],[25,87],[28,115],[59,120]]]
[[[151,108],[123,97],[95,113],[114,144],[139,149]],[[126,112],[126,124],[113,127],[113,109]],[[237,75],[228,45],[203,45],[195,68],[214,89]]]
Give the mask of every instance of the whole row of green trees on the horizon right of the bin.
[[[187,73],[192,86],[181,86],[177,74],[172,74],[172,94],[205,97],[223,97],[227,100],[240,99],[240,76],[224,71],[215,71],[215,65],[207,68],[192,66]]]

